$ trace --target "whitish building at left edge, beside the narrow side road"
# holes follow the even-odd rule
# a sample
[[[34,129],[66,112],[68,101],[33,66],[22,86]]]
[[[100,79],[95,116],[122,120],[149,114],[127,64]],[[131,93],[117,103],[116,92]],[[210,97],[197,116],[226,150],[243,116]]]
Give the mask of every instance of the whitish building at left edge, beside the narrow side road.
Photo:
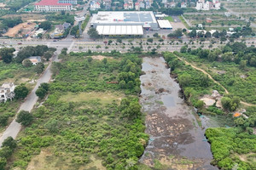
[[[13,82],[4,82],[0,88],[0,103],[12,100],[15,97],[15,84]]]

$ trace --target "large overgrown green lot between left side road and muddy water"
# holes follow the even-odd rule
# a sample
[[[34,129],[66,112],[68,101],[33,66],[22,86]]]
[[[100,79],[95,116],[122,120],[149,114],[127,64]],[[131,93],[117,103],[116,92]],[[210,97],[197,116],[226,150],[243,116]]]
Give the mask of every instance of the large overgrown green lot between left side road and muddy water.
[[[20,133],[9,167],[136,168],[148,141],[137,99],[142,59],[84,56],[63,59],[49,98]]]

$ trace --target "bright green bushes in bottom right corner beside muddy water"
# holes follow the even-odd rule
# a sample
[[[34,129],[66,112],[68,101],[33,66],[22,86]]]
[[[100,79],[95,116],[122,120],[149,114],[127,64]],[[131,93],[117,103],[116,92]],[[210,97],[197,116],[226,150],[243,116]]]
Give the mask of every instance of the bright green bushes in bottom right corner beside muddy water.
[[[239,128],[208,128],[207,139],[211,143],[214,161],[221,169],[253,170],[256,168],[256,161],[253,158],[256,153],[256,136],[243,133]],[[245,159],[241,161],[241,156]]]

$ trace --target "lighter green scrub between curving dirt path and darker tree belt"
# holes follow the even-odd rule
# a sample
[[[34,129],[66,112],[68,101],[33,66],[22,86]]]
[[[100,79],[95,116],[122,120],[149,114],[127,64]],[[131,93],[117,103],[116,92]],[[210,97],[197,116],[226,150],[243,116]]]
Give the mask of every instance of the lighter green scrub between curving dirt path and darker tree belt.
[[[224,85],[231,94],[239,96],[241,100],[256,104],[256,69],[235,62],[218,62],[202,59],[193,54],[179,54],[183,58],[207,71],[216,81]]]

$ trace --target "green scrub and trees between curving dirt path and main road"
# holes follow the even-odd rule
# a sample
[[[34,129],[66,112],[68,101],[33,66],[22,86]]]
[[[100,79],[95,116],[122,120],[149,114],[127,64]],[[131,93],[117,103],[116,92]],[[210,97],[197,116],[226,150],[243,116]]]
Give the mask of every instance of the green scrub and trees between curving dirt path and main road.
[[[243,42],[228,43],[221,50],[187,49],[189,54],[178,54],[190,62],[200,64],[230,94],[242,101],[256,104],[256,48],[247,48]]]

